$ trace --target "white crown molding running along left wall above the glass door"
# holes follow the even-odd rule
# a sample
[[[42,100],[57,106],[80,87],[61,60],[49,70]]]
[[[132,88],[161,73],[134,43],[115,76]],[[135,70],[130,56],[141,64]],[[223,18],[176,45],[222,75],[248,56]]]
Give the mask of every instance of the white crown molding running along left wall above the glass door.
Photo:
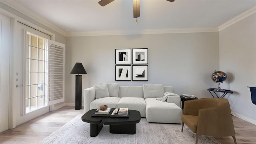
[[[45,20],[44,18],[38,16],[37,14],[35,14],[34,12],[28,10],[27,8],[21,6],[20,4],[12,1],[12,0],[3,0],[1,1],[3,4],[6,4],[7,6],[13,8],[14,10],[17,10],[18,12],[32,18],[33,20],[47,26],[48,28],[62,34],[63,36],[66,36],[66,32],[60,28],[58,28],[58,26],[48,22],[47,20]]]

